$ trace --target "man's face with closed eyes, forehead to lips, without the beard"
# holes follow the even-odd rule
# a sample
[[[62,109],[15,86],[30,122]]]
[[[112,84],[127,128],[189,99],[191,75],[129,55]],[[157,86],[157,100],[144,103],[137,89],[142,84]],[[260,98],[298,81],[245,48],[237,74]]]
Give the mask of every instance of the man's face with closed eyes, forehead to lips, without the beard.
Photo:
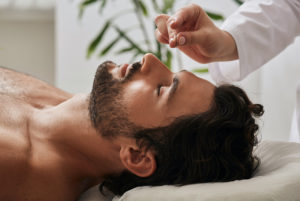
[[[214,85],[188,71],[172,73],[152,54],[146,54],[143,61],[135,65],[106,64],[107,73],[114,81],[103,87],[118,91],[118,96],[114,95],[118,100],[109,101],[115,105],[111,110],[115,107],[119,112],[126,112],[128,121],[139,127],[166,126],[176,117],[209,109]],[[110,93],[110,90],[105,91]]]

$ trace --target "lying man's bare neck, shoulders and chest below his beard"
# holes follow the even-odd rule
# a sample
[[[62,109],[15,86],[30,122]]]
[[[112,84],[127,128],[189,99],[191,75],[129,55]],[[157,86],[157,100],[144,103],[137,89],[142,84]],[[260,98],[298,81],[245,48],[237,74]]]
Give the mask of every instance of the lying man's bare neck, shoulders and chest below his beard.
[[[99,172],[104,174],[101,170],[111,167],[99,168],[94,163],[95,158],[102,161],[104,153],[99,154],[88,143],[97,138],[98,145],[108,150],[113,145],[107,147],[90,125],[82,123],[81,129],[72,125],[72,129],[66,130],[56,121],[68,123],[68,115],[77,115],[78,122],[74,119],[74,123],[80,125],[82,119],[88,118],[86,98],[24,74],[0,69],[0,200],[71,201],[101,181]],[[68,111],[68,115],[63,111]],[[72,132],[72,139],[68,135],[60,139],[62,131]],[[87,142],[80,145],[85,152],[71,145],[79,137]],[[92,158],[89,152],[99,155]],[[88,154],[90,158],[85,157]],[[113,155],[111,151],[111,158]],[[106,164],[111,165],[109,160]]]

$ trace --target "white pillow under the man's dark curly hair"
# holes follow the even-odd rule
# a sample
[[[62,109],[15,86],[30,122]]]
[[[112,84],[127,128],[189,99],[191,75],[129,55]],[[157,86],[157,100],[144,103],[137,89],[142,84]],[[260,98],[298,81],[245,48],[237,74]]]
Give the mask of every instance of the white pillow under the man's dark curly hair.
[[[299,201],[300,144],[264,141],[255,152],[261,165],[251,179],[181,187],[138,187],[113,201]],[[98,191],[90,195],[80,201],[110,199],[100,198]]]

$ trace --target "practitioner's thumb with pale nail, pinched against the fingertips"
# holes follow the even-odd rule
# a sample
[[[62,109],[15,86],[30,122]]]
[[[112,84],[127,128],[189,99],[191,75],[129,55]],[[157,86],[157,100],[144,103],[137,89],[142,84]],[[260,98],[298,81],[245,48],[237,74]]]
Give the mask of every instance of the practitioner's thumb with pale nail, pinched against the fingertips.
[[[207,34],[204,31],[180,32],[177,34],[177,45],[202,45],[207,40]]]

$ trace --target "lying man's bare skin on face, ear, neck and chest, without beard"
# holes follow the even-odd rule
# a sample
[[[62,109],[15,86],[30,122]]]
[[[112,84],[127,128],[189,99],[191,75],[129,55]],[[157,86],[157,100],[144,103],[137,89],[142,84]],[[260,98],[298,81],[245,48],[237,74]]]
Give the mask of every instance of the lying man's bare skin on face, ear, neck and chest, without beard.
[[[122,79],[130,68],[112,64],[111,73]],[[174,77],[179,84],[169,99]],[[211,83],[187,71],[172,73],[146,54],[124,85],[124,107],[136,125],[167,125],[207,110],[213,90]],[[0,200],[74,201],[107,175],[153,174],[154,153],[129,137],[102,137],[91,125],[88,100],[89,94],[73,95],[0,68]]]

